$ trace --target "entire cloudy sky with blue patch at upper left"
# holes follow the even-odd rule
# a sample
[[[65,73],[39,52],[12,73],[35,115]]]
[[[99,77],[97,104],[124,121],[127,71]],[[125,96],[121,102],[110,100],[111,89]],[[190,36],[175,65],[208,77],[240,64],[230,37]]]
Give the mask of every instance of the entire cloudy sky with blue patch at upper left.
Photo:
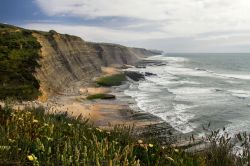
[[[249,0],[1,0],[0,21],[166,52],[250,52]]]

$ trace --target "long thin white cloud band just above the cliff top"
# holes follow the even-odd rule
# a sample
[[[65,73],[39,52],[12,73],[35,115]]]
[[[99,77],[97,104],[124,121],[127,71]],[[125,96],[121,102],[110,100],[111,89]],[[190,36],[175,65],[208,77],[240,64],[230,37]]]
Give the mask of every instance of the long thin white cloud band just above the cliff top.
[[[162,38],[164,34],[160,32],[134,32],[129,30],[114,30],[97,26],[63,25],[51,23],[31,23],[23,25],[24,28],[36,30],[56,30],[59,33],[77,35],[85,40],[99,42],[125,43],[133,40],[149,40]]]

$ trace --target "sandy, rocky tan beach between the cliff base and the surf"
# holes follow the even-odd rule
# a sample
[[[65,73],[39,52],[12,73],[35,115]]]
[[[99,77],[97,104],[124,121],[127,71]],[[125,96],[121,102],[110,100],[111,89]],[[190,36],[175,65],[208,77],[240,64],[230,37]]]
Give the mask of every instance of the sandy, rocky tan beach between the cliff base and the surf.
[[[150,61],[149,64],[153,64]],[[155,62],[159,63],[159,62]],[[148,62],[140,62],[140,66],[148,65]],[[107,67],[103,69],[103,73],[99,76],[108,74],[116,74],[118,68]],[[137,77],[137,76],[135,76]],[[95,87],[93,83],[77,81],[70,88],[65,89],[58,95],[49,98],[46,102],[24,102],[24,104],[15,105],[15,109],[24,109],[26,106],[39,107],[42,106],[47,112],[67,112],[70,116],[83,116],[90,119],[97,127],[103,129],[111,129],[115,125],[134,126],[136,135],[153,136],[161,140],[161,144],[167,144],[169,140],[177,141],[177,137],[182,133],[175,130],[170,124],[161,118],[140,110],[135,99],[126,95],[124,91],[129,88],[131,80],[125,81],[120,86],[105,88],[106,92],[110,92],[116,96],[114,100],[86,100],[85,97],[90,94],[100,93],[102,90]],[[86,92],[87,89],[87,92]],[[173,141],[171,141],[173,142]]]

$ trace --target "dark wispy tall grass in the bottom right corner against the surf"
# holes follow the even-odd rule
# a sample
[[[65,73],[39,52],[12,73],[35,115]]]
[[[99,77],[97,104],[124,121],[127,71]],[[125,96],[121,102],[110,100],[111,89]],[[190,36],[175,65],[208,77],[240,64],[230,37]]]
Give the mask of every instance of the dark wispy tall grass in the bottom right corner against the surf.
[[[209,131],[209,129],[205,129]],[[246,132],[230,136],[225,128],[210,130],[203,139],[206,146],[197,153],[204,165],[246,166],[250,165],[250,135]]]

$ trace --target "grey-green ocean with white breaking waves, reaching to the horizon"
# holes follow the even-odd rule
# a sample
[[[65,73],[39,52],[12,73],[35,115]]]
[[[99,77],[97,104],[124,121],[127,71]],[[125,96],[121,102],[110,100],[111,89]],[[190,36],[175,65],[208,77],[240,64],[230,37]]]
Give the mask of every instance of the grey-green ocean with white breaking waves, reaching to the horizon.
[[[202,134],[208,123],[230,134],[250,132],[250,54],[166,54],[148,60],[165,65],[130,69],[156,75],[125,91],[142,111],[183,134]]]

